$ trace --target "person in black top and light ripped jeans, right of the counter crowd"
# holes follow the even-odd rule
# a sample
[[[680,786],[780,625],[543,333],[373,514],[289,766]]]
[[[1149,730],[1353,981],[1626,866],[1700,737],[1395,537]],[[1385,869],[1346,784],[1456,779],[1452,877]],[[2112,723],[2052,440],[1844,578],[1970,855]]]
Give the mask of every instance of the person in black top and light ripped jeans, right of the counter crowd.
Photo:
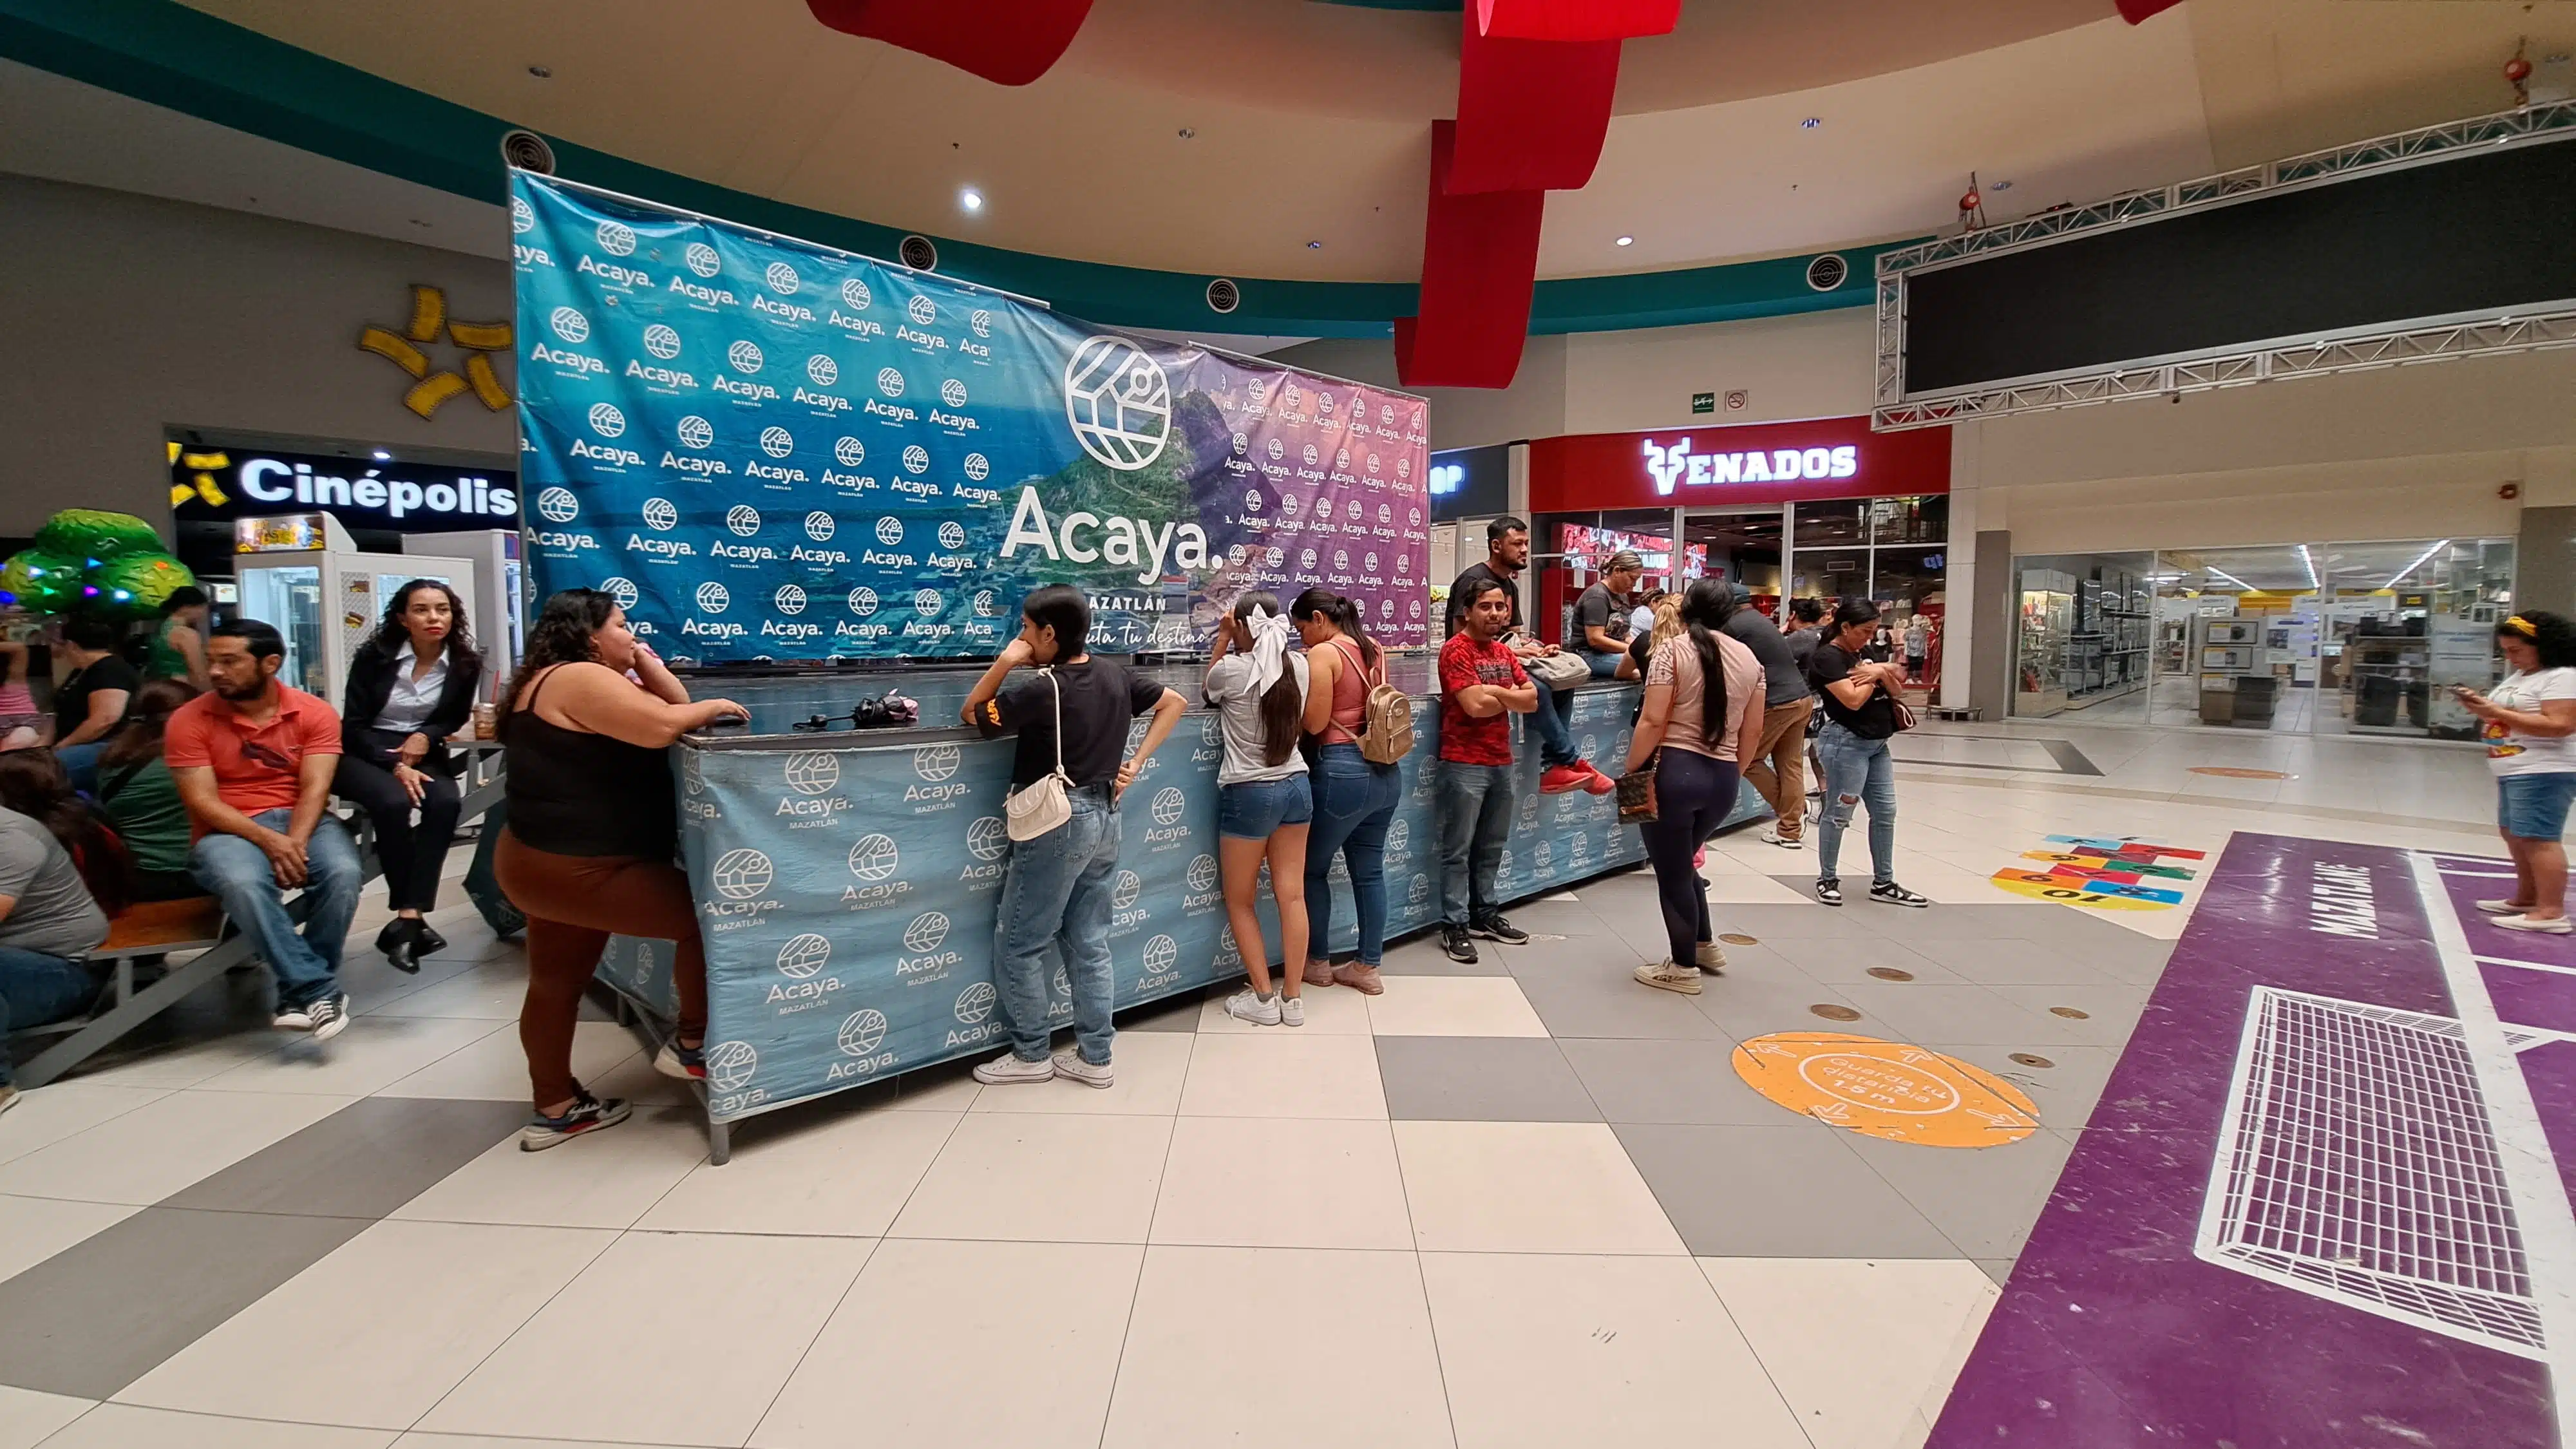
[[[1834,611],[1832,634],[1816,645],[1806,678],[1824,704],[1824,730],[1816,732],[1816,761],[1824,763],[1824,820],[1816,825],[1816,900],[1842,905],[1842,833],[1852,807],[1870,807],[1870,900],[1886,905],[1932,905],[1896,884],[1896,761],[1888,735],[1896,732],[1891,694],[1906,681],[1904,665],[1870,663],[1862,652],[1878,634],[1878,606],[1852,598]]]

